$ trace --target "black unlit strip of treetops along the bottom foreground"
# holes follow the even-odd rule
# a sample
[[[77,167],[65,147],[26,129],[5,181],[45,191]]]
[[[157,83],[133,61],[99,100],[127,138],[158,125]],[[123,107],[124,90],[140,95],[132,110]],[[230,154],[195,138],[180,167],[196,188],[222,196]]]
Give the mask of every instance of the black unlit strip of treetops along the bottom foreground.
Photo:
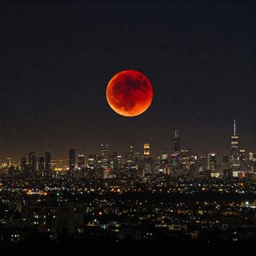
[[[252,255],[256,241],[227,242],[204,238],[193,240],[188,237],[168,238],[159,235],[148,241],[136,242],[133,238],[116,240],[110,234],[98,237],[90,235],[73,238],[62,234],[58,242],[51,241],[46,234],[31,234],[26,241],[6,244],[1,255]]]

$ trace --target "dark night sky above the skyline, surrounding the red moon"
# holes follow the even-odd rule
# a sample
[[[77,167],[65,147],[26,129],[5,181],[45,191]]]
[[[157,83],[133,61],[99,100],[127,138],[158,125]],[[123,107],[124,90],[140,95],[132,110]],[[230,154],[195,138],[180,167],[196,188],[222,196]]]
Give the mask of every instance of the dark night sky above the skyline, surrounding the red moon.
[[[256,151],[255,14],[255,1],[2,0],[1,160],[98,154],[102,142],[171,153],[175,128],[193,153],[229,154],[234,118]],[[106,102],[121,70],[154,88],[135,118]]]

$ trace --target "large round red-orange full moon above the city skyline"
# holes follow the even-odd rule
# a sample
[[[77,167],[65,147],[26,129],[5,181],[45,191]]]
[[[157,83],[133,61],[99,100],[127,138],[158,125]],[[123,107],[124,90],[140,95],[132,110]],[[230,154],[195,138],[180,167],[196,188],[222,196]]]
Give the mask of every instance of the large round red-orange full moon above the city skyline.
[[[150,80],[136,70],[115,74],[106,87],[106,99],[112,110],[134,117],[148,109],[153,99]]]

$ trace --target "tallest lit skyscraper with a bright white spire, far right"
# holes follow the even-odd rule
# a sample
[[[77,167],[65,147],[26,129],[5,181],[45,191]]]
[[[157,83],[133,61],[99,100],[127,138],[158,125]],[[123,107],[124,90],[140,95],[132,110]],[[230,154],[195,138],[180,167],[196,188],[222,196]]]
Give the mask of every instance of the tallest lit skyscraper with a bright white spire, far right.
[[[234,134],[231,136],[231,156],[230,156],[230,166],[233,171],[238,171],[240,169],[240,152],[238,135],[236,134],[236,124],[234,120]]]

